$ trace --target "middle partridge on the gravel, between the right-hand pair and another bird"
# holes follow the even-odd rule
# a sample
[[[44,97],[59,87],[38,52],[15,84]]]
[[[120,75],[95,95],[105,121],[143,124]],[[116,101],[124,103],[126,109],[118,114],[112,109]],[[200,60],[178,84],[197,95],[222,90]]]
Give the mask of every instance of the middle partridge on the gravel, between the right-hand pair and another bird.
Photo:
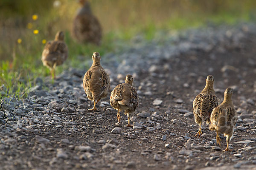
[[[139,97],[136,89],[132,86],[133,77],[128,74],[125,78],[125,83],[117,85],[111,92],[110,105],[117,110],[116,120],[120,122],[120,111],[125,110],[125,115],[128,117],[128,124],[130,125],[130,118],[139,106]]]

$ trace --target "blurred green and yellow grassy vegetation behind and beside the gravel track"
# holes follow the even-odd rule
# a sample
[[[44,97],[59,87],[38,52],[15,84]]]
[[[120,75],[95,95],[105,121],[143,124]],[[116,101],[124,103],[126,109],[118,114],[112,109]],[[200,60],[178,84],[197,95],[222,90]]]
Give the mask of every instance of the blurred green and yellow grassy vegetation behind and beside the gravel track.
[[[6,87],[2,96],[26,96],[33,79],[49,76],[49,69],[42,65],[41,53],[44,42],[54,39],[58,30],[65,32],[69,62],[58,67],[57,74],[70,66],[83,68],[81,63],[90,59],[94,51],[103,56],[125,48],[138,34],[151,40],[159,30],[171,33],[208,23],[235,24],[256,18],[255,0],[89,2],[104,31],[100,47],[81,45],[70,37],[73,18],[80,8],[78,0],[0,0],[0,85]]]

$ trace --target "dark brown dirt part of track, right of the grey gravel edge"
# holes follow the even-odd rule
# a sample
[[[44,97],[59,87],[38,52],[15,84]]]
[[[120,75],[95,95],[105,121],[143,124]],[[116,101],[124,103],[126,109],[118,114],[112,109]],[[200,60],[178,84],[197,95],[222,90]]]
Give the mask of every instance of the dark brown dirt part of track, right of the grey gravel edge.
[[[140,97],[137,113],[145,111],[151,113],[151,117],[146,119],[136,115],[133,121],[135,119],[141,125],[154,127],[155,130],[150,131],[145,127],[133,130],[133,127],[125,127],[127,117],[123,112],[121,124],[116,125],[116,111],[106,111],[111,106],[98,105],[100,110],[94,113],[87,111],[89,107],[86,107],[84,113],[66,113],[65,123],[40,124],[31,132],[21,131],[15,136],[16,144],[1,148],[0,165],[2,164],[3,169],[17,170],[192,170],[223,166],[227,166],[226,169],[253,167],[253,160],[256,159],[255,121],[238,122],[236,127],[245,129],[241,131],[236,128],[230,142],[233,151],[223,152],[221,150],[226,147],[223,135],[221,150],[215,147],[215,132],[209,131],[208,125],[202,127],[205,134],[200,138],[194,137],[198,131],[194,116],[184,116],[179,109],[192,112],[193,99],[204,88],[207,75],[211,74],[215,79],[214,88],[218,98],[222,101],[224,90],[233,87],[232,98],[239,111],[238,115],[255,119],[255,47],[256,37],[252,35],[250,39],[244,39],[239,48],[216,45],[208,52],[189,51],[169,60],[161,60],[156,63],[157,69],[152,72],[140,72],[134,77],[134,86],[139,90]],[[163,102],[160,106],[154,106],[154,99]],[[103,101],[109,102],[109,99]],[[149,123],[148,119],[154,124]],[[115,127],[120,127],[121,132],[111,133]],[[49,139],[49,142],[38,142],[36,136]],[[189,138],[192,148],[185,149]],[[68,139],[69,142],[61,139]],[[253,142],[235,143],[243,140]],[[169,146],[166,147],[165,144]],[[78,146],[89,147],[83,150]],[[58,153],[64,153],[64,156],[58,156]]]

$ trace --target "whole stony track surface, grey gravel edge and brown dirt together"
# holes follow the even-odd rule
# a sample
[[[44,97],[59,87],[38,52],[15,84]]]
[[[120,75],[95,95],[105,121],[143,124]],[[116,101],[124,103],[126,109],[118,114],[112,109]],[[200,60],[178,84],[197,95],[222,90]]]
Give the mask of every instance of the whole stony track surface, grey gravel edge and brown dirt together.
[[[135,37],[132,47],[102,56],[111,90],[133,74],[140,107],[127,117],[103,99],[98,112],[82,88],[86,70],[69,69],[52,83],[38,78],[27,99],[1,99],[0,169],[256,169],[256,25],[239,24],[160,33],[147,42]],[[234,89],[239,122],[224,153],[226,139],[202,126],[194,137],[192,101],[215,77],[223,99]],[[4,87],[2,86],[3,90]]]

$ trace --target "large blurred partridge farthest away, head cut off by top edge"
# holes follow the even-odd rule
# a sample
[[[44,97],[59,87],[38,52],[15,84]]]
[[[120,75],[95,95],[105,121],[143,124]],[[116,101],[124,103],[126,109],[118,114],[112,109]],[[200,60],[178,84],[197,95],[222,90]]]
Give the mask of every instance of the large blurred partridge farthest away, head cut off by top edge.
[[[79,0],[82,8],[76,14],[73,21],[72,36],[80,43],[101,44],[102,27],[93,15],[87,0]]]

